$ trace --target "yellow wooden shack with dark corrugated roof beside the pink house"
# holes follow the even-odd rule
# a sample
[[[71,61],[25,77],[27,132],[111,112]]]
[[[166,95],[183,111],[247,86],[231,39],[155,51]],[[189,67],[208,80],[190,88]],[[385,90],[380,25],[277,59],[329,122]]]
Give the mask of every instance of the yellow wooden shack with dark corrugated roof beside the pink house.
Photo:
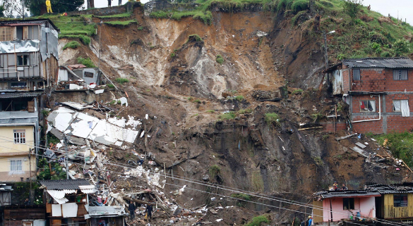
[[[366,190],[378,192],[376,196],[376,216],[385,220],[413,219],[413,183],[384,185],[376,184]]]

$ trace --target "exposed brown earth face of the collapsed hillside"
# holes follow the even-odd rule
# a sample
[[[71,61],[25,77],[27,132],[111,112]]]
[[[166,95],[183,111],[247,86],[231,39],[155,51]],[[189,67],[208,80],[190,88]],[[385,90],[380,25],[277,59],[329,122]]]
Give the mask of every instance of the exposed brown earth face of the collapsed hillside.
[[[212,25],[193,18],[152,19],[140,8],[134,16],[138,25],[102,25],[100,65],[112,79],[131,81],[119,84],[122,92],[113,95],[128,94],[130,107],[121,115],[150,115],[143,126],[152,138],[139,139],[135,146],[153,153],[167,172],[201,181],[209,176],[205,181],[305,202],[334,180],[359,189],[366,182],[400,182],[405,177],[404,171],[397,174],[393,168],[366,163],[349,149],[354,142],[337,142],[334,134],[322,130],[298,130],[299,123],[313,121],[311,114],[331,113],[339,100],[325,101],[330,96],[325,89],[313,90],[322,79],[314,74],[323,67],[321,47],[283,15],[217,11]],[[192,34],[200,39],[189,38]],[[62,39],[59,45],[66,42]],[[61,51],[59,63],[75,63],[76,56],[87,55],[97,65],[97,49],[99,37],[90,46]],[[275,93],[287,83],[309,89],[290,92],[279,102],[257,101],[257,90]],[[225,99],[222,93],[242,99]],[[268,96],[265,99],[282,95]],[[251,111],[218,119],[223,111],[242,109]],[[266,113],[277,113],[280,120],[268,123]],[[371,144],[371,150],[376,148]],[[218,177],[210,175],[214,165],[220,168]],[[199,184],[188,187],[208,190]],[[166,192],[175,189],[167,186]],[[184,206],[199,206],[208,195],[187,190],[176,199]]]

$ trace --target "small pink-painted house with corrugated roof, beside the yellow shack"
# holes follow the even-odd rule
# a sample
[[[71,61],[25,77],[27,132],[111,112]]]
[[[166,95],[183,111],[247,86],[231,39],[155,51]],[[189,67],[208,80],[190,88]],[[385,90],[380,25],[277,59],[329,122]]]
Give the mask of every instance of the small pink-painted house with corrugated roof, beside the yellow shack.
[[[313,222],[338,222],[353,219],[360,213],[361,218],[376,218],[376,191],[325,191],[313,194]]]

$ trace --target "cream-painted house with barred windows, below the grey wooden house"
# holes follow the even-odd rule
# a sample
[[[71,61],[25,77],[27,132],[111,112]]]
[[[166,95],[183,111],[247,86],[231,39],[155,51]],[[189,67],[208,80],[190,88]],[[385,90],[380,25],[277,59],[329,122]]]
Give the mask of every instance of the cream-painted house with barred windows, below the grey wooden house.
[[[35,178],[40,144],[38,96],[42,92],[0,94],[0,181]]]

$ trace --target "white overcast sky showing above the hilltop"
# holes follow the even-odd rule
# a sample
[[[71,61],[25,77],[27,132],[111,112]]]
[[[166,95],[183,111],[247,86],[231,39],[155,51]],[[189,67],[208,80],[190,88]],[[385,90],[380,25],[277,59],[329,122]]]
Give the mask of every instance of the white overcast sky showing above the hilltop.
[[[102,8],[107,7],[108,0],[95,0],[95,7]],[[128,0],[121,0],[122,4],[126,4]],[[149,0],[141,0],[142,3],[146,3]],[[86,2],[86,0],[85,0]],[[119,0],[112,0],[112,6],[117,6]],[[364,5],[371,5],[371,10],[378,11],[383,15],[388,15],[397,18],[397,11],[399,18],[407,19],[407,23],[413,25],[413,0],[364,0]]]

